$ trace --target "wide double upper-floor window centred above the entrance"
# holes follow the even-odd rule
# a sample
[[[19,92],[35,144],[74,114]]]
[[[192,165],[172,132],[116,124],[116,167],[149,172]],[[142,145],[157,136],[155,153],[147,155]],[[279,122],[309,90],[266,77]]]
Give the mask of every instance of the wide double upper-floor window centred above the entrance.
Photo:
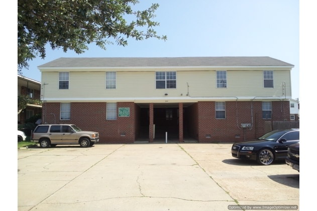
[[[156,89],[176,89],[176,72],[155,72]]]

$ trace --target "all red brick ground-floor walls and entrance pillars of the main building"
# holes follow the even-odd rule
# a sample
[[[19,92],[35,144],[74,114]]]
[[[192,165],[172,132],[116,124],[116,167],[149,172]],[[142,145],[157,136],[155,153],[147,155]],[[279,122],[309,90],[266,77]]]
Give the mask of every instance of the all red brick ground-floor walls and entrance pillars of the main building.
[[[290,121],[288,101],[272,101],[272,120]],[[129,117],[119,117],[119,107],[129,107]],[[252,109],[251,109],[252,108]],[[153,142],[153,109],[149,103],[149,142]],[[252,112],[251,112],[252,111]],[[133,143],[141,130],[141,108],[134,102],[117,102],[117,119],[107,120],[107,103],[71,103],[70,120],[60,120],[60,103],[44,103],[42,121],[71,123],[82,130],[99,132],[100,143]],[[186,128],[189,137],[199,142],[241,142],[264,134],[261,101],[227,101],[226,118],[216,119],[214,101],[200,101],[185,108]],[[253,116],[253,121],[252,121]],[[250,123],[252,128],[241,128]],[[179,103],[179,141],[183,141],[183,103]]]

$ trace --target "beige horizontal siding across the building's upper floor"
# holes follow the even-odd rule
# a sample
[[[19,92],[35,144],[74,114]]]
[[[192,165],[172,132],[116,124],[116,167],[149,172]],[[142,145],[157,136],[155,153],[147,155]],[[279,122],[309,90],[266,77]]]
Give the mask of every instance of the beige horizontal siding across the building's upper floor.
[[[69,72],[69,89],[58,89],[58,72],[42,72],[44,98],[155,98],[290,96],[289,70],[274,71],[274,88],[263,88],[262,70],[228,70],[227,88],[216,88],[216,71],[177,71],[176,89],[155,89],[155,71],[117,71],[116,89],[105,89],[105,72]],[[189,87],[187,87],[187,83]],[[42,90],[43,91],[43,90]],[[284,91],[285,92],[285,91]]]

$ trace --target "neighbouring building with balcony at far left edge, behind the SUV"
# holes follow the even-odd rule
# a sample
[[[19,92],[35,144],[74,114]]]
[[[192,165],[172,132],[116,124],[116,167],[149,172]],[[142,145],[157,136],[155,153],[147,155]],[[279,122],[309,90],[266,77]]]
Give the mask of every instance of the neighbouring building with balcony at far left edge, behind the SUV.
[[[41,82],[18,75],[18,96],[29,95],[32,99],[40,100]],[[20,113],[18,111],[18,124],[25,123],[25,120],[36,114],[42,113],[42,106],[38,103],[28,104]]]

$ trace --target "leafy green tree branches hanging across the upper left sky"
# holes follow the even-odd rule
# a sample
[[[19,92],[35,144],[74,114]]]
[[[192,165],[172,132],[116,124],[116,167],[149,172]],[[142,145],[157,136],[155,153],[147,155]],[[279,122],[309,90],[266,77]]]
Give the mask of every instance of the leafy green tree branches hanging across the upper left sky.
[[[45,45],[77,54],[95,43],[126,46],[129,37],[136,40],[157,38],[152,21],[158,4],[144,11],[133,11],[138,0],[18,0],[18,71],[29,67],[28,61],[45,58]],[[126,19],[130,19],[127,22]],[[145,28],[145,31],[142,31]]]

